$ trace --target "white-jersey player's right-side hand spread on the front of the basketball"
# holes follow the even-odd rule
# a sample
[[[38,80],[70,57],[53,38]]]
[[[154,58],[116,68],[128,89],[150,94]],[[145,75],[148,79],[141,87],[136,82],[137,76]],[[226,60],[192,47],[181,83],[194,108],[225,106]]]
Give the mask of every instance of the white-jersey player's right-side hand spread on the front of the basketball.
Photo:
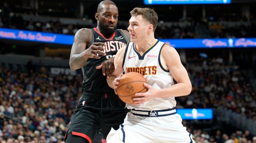
[[[144,83],[143,85],[148,89],[148,91],[145,93],[136,93],[133,98],[134,104],[142,104],[144,102],[150,101],[158,95],[157,89],[154,89],[151,85],[147,83]]]

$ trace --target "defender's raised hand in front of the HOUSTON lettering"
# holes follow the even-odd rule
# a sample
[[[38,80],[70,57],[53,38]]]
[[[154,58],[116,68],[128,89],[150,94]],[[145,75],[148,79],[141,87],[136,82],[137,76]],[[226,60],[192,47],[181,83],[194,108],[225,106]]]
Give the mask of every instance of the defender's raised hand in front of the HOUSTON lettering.
[[[107,46],[107,44],[102,42],[94,42],[88,49],[84,50],[85,52],[84,55],[89,58],[99,59],[100,58],[99,55],[103,55],[103,56],[106,55],[106,53],[102,52],[104,51],[103,46]],[[99,54],[99,55],[97,56],[96,54]]]

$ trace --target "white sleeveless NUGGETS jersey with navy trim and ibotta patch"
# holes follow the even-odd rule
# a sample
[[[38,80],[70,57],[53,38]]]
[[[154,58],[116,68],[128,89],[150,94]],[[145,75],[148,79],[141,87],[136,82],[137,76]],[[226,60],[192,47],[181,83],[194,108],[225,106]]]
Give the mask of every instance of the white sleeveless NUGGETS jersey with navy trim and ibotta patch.
[[[148,84],[155,89],[172,86],[174,84],[173,77],[161,58],[161,50],[164,45],[164,42],[157,40],[141,55],[135,49],[135,43],[127,43],[123,58],[124,72],[137,72],[144,75]],[[154,98],[139,106],[134,104],[126,104],[126,106],[128,109],[161,110],[175,107],[176,101],[174,97],[161,97]]]

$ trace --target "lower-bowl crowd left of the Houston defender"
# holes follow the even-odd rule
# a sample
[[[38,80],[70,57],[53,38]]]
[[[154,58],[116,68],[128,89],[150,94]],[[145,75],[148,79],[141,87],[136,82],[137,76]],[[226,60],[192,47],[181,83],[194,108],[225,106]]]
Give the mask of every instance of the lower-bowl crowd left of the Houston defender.
[[[80,75],[0,67],[0,142],[62,142],[81,83]]]

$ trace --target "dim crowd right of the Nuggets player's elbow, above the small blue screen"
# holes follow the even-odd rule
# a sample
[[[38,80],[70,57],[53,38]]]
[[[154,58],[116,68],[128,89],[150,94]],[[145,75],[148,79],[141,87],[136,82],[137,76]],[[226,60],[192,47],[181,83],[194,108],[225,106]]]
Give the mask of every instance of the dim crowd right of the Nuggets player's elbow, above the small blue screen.
[[[186,108],[226,106],[256,119],[256,94],[247,71],[226,61],[221,57],[188,58],[186,69],[193,89],[190,96],[177,98],[178,102]]]

